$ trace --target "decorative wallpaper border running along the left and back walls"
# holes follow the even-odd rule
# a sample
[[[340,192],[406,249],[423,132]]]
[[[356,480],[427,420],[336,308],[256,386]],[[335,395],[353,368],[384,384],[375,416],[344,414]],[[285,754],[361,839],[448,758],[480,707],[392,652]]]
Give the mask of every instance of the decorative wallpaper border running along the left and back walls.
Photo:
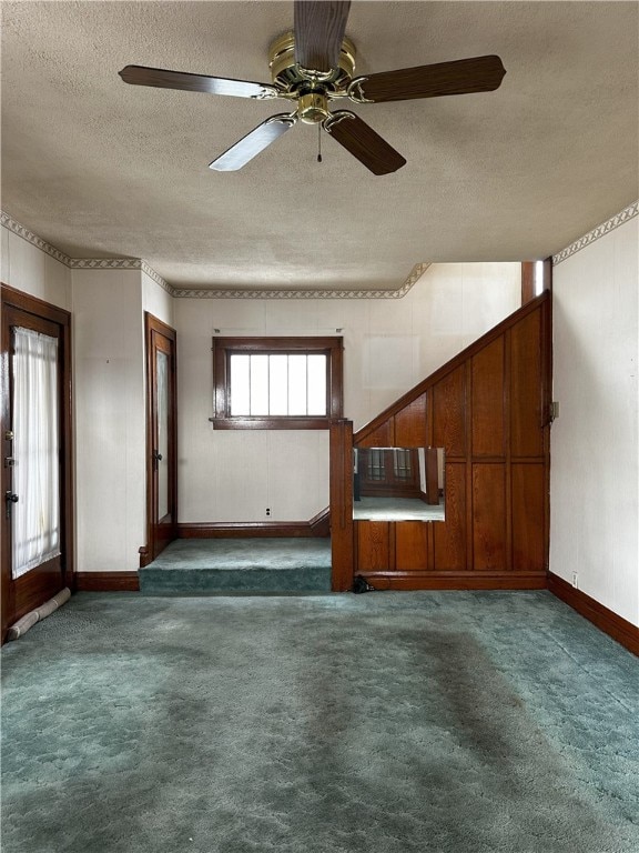
[[[396,290],[206,290],[176,288],[141,258],[70,258],[0,210],[0,224],[72,270],[141,270],[174,299],[402,299],[430,263],[416,263]]]

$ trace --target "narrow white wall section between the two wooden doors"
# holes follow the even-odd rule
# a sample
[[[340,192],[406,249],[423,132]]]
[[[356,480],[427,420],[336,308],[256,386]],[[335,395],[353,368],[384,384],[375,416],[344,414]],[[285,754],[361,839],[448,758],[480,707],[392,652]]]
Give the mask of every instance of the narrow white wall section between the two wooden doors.
[[[77,569],[134,571],[145,529],[139,270],[73,270]]]

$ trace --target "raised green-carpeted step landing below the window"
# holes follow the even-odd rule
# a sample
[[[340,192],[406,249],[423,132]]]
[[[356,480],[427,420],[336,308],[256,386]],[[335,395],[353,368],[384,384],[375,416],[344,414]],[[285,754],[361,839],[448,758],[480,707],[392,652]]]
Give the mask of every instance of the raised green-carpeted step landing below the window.
[[[331,540],[178,539],[139,575],[145,595],[329,592]]]

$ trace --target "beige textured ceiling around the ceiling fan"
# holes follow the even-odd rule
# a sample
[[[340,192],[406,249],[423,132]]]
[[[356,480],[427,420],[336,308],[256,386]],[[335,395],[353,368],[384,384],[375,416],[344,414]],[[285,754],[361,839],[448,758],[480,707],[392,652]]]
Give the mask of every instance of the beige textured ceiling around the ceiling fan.
[[[2,209],[72,258],[176,287],[395,289],[424,261],[552,254],[639,195],[636,2],[359,2],[356,73],[497,53],[495,92],[358,112],[377,178],[298,123],[209,162],[285,101],[131,87],[125,64],[270,82],[291,2],[2,2]],[[342,102],[337,102],[339,106]]]

